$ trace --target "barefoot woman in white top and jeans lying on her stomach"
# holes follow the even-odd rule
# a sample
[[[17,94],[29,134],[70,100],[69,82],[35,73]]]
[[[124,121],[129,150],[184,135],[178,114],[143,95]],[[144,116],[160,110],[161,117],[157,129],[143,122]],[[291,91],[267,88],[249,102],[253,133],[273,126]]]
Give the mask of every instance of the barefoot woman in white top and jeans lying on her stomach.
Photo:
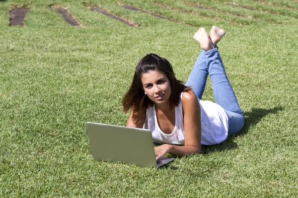
[[[216,45],[224,34],[216,26],[209,36],[205,28],[194,34],[202,51],[186,85],[175,78],[165,58],[150,53],[138,63],[132,85],[122,99],[124,112],[131,109],[126,126],[152,132],[153,140],[162,144],[154,148],[156,159],[167,153],[201,153],[201,144],[221,143],[243,127],[243,113]],[[216,103],[201,100],[208,74]]]

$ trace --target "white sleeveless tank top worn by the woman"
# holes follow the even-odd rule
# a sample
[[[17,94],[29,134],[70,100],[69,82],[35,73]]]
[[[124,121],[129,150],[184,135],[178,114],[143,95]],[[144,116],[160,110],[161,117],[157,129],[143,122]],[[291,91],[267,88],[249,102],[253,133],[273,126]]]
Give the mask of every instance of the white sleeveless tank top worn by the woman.
[[[175,128],[171,134],[163,133],[157,123],[155,105],[146,110],[144,129],[152,132],[153,141],[174,145],[184,145],[184,123],[182,112],[182,95],[178,106],[175,106]],[[228,117],[224,108],[212,101],[200,100],[201,107],[201,144],[215,145],[223,142],[227,137]]]

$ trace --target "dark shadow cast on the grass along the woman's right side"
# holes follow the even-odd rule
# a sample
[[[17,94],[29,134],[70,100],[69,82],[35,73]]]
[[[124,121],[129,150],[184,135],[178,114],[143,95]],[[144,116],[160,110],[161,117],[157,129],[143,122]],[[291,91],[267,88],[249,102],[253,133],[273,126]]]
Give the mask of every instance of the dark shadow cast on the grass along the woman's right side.
[[[202,146],[202,153],[207,154],[209,152],[238,148],[238,145],[235,142],[233,142],[233,139],[235,137],[246,134],[250,127],[255,126],[263,117],[265,117],[268,114],[276,114],[280,110],[283,110],[282,106],[277,106],[270,109],[253,108],[249,112],[244,112],[244,126],[239,133],[227,137],[227,139],[220,144],[212,146]]]

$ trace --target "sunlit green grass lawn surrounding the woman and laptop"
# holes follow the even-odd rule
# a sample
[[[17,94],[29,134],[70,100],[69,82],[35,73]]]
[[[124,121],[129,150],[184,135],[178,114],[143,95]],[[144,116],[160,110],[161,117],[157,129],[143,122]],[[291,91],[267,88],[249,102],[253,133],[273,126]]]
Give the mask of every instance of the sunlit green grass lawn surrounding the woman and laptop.
[[[297,197],[298,2],[229,1],[259,11],[224,2],[0,0],[0,197]],[[8,11],[21,5],[31,7],[25,27],[9,27]],[[241,132],[161,169],[94,160],[86,121],[126,124],[121,99],[138,60],[157,53],[185,82],[200,52],[192,35],[212,25],[227,32],[219,47]],[[210,80],[203,99],[214,100]]]

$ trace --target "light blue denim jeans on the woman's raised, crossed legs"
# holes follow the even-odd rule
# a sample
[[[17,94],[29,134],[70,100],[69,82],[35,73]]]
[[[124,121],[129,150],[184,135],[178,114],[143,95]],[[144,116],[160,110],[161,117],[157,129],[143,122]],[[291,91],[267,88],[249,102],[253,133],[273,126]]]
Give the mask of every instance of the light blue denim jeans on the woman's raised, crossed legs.
[[[235,93],[229,83],[223,60],[218,47],[204,51],[202,49],[186,85],[191,86],[199,99],[202,99],[208,74],[212,81],[213,93],[216,103],[224,108],[228,117],[227,135],[239,132],[244,124],[243,112],[240,109]]]

